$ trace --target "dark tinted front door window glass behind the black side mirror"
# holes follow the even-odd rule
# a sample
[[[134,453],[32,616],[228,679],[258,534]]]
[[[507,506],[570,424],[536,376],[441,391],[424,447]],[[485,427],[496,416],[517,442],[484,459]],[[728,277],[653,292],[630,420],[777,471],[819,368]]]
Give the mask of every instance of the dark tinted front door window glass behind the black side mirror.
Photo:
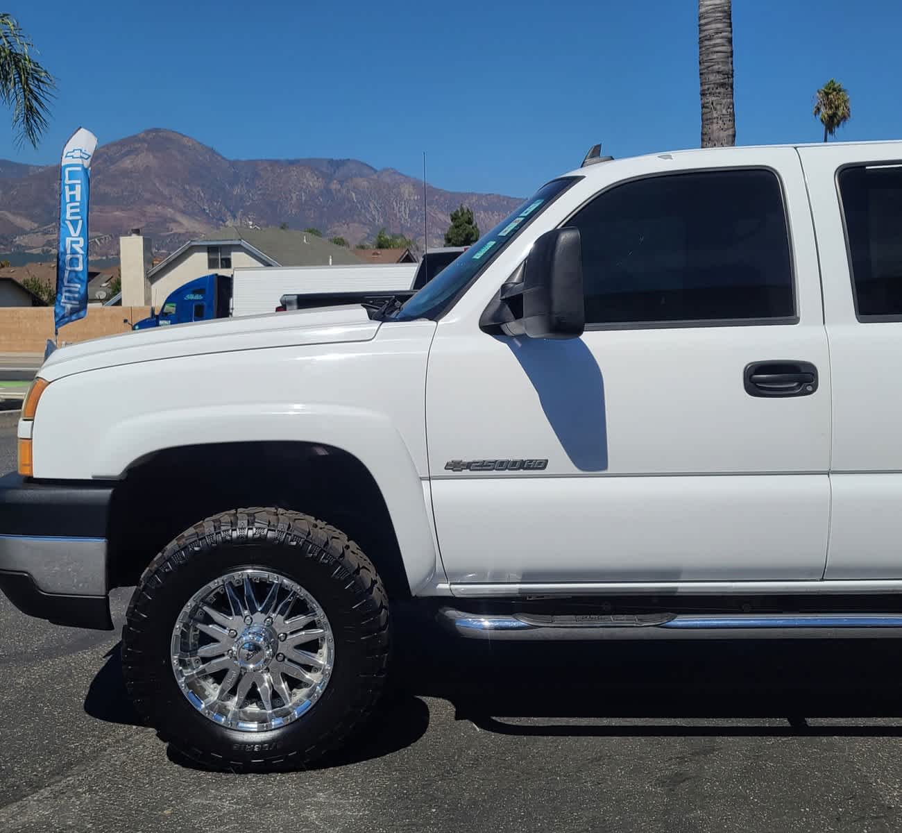
[[[567,225],[582,236],[587,323],[794,320],[786,215],[770,171],[627,182]]]

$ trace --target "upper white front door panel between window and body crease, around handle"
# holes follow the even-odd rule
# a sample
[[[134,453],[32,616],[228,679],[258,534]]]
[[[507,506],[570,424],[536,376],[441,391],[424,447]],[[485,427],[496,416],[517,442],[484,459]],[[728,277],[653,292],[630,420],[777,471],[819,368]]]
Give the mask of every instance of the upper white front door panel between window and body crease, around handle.
[[[818,367],[816,393],[746,393],[745,366],[789,357]],[[601,330],[554,341],[478,330],[446,338],[439,323],[427,382],[430,472],[463,479],[446,462],[547,458],[544,476],[557,477],[825,473],[828,367],[820,326]]]

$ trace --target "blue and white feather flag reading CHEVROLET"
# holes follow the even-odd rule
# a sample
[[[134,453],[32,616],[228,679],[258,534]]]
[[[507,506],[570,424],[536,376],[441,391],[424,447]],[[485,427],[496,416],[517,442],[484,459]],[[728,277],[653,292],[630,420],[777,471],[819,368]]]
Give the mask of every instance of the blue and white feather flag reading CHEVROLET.
[[[62,149],[56,329],[87,313],[87,197],[97,136],[84,127]]]

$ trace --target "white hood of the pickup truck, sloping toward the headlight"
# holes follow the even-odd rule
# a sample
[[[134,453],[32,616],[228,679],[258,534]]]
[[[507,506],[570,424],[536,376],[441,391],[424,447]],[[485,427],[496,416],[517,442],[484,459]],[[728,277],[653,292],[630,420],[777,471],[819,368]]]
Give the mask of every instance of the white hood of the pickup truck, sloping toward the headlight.
[[[71,347],[60,347],[44,362],[39,375],[51,381],[61,376],[179,356],[226,353],[261,347],[295,347],[369,341],[379,321],[361,306],[272,312],[239,319],[216,319],[169,327],[133,330]]]

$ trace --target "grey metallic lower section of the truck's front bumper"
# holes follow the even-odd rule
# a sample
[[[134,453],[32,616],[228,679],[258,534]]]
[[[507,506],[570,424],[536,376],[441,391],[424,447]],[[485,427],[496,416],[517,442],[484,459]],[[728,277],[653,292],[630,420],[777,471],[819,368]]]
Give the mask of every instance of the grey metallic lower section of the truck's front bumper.
[[[43,593],[106,596],[106,539],[0,534],[0,570],[27,573]]]

